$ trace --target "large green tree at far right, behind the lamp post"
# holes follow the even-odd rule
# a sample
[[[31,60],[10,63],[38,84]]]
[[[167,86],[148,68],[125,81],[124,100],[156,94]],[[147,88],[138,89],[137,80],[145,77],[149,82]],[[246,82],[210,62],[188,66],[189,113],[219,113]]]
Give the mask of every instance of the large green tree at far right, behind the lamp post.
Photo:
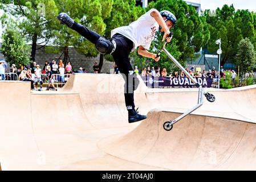
[[[218,45],[217,39],[221,38],[222,59],[221,65],[227,61],[235,63],[238,44],[243,38],[249,38],[251,43],[256,46],[255,29],[256,15],[248,10],[237,10],[233,5],[224,5],[214,13],[210,10],[204,11],[203,15],[209,25],[210,40],[206,47],[209,52],[215,53]]]

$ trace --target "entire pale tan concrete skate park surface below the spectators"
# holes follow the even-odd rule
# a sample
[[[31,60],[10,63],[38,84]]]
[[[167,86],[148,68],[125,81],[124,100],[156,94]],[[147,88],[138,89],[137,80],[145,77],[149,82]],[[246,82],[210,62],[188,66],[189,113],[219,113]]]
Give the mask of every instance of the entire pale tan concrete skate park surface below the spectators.
[[[256,86],[222,90],[197,104],[198,89],[148,89],[135,105],[147,119],[128,123],[121,75],[74,74],[55,91],[1,81],[2,170],[255,170]]]

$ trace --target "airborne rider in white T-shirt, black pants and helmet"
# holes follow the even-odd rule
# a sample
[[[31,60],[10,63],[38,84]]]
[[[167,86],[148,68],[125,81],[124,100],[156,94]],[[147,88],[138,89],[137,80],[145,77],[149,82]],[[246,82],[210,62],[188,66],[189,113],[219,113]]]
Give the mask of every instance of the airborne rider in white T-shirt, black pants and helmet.
[[[167,42],[170,42],[172,37],[168,37],[170,34],[169,29],[176,24],[176,17],[170,11],[159,12],[156,9],[151,9],[128,26],[112,30],[110,40],[76,23],[66,13],[60,13],[57,18],[60,23],[66,24],[91,43],[94,43],[97,51],[101,54],[113,56],[125,80],[124,97],[128,110],[128,122],[133,123],[147,118],[145,115],[138,114],[137,110],[135,110],[133,92],[136,90],[139,80],[136,74],[133,75],[133,68],[129,62],[129,53],[138,47],[137,52],[139,55],[159,61],[160,57],[157,57],[155,53],[149,52],[148,49],[158,30],[164,32],[162,41],[166,39]],[[135,81],[129,81],[130,79],[135,79]]]

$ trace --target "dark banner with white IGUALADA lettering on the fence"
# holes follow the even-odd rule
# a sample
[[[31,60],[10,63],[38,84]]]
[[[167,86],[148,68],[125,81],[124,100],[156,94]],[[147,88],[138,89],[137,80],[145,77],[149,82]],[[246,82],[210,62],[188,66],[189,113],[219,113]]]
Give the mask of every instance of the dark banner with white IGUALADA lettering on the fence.
[[[143,78],[144,83],[149,88],[158,88],[158,87],[169,87],[169,86],[182,86],[182,87],[193,87],[194,83],[188,77],[179,77],[179,78],[170,78],[170,77],[153,77],[146,76]],[[202,85],[202,87],[211,87],[213,79],[198,77],[196,78],[198,83]]]

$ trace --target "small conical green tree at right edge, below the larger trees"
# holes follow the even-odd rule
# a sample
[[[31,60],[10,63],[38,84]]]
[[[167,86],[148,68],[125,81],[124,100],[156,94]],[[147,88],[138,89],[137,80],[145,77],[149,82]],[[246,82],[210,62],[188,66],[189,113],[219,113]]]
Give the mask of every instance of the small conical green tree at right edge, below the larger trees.
[[[250,42],[250,39],[245,38],[239,42],[238,52],[235,56],[235,64],[239,65],[239,72],[241,75],[246,72],[250,72],[256,63],[254,46]]]

